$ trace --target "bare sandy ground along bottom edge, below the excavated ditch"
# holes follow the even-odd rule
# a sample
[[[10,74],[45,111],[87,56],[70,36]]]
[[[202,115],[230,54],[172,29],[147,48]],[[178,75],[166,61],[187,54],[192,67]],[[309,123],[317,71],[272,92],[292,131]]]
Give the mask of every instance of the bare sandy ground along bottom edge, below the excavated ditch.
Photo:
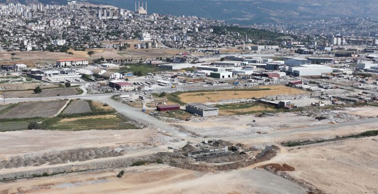
[[[92,171],[0,183],[0,191],[24,194],[306,194],[295,183],[263,170],[203,173],[166,165]]]

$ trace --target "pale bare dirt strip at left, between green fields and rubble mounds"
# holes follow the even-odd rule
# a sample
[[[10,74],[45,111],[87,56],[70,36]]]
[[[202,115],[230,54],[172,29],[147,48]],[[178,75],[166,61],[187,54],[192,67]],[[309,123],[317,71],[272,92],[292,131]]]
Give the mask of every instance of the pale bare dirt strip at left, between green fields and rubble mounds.
[[[154,134],[156,132],[151,129],[1,132],[0,158],[75,148],[146,143]]]

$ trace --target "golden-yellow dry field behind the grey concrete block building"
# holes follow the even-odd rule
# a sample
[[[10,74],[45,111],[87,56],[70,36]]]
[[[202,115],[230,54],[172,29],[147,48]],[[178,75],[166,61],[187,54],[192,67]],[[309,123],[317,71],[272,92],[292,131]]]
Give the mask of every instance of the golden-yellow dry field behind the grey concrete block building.
[[[299,90],[296,88],[286,87],[283,85],[274,85],[274,86],[261,86],[259,88],[269,88],[270,90],[261,90],[261,91],[210,91],[210,92],[190,92],[180,94],[179,97],[181,101],[190,103],[190,102],[218,102],[225,99],[247,99],[252,97],[267,97],[267,96],[276,96],[276,95],[295,95],[303,94],[306,91]]]

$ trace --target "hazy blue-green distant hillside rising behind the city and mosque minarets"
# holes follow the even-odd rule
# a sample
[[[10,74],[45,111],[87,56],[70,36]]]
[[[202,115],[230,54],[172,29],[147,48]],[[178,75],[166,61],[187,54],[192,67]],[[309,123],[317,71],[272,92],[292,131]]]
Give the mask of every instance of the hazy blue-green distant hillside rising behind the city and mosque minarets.
[[[135,9],[135,0],[87,1]],[[149,13],[199,16],[239,24],[283,22],[292,18],[378,17],[377,0],[147,0],[147,5]]]

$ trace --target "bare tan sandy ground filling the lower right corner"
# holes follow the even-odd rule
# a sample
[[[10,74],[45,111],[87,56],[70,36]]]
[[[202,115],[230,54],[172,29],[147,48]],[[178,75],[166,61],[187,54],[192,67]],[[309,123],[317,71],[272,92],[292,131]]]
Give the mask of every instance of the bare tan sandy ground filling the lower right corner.
[[[282,160],[293,178],[329,194],[377,194],[376,137],[289,149]]]

